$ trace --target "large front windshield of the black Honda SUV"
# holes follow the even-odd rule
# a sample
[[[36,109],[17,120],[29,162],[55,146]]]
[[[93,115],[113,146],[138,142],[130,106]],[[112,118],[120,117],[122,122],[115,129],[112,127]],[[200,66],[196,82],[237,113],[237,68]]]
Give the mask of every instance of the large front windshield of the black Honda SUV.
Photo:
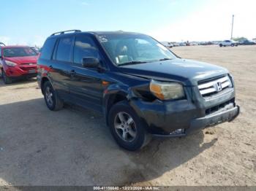
[[[97,38],[117,66],[176,58],[165,46],[143,34],[104,34]]]

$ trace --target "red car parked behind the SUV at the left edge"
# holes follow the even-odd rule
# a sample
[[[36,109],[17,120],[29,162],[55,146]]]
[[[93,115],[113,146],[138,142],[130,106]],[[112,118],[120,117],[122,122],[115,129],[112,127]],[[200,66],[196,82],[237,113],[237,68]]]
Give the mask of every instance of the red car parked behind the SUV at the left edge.
[[[37,52],[26,46],[0,47],[1,77],[5,84],[13,79],[37,77]]]

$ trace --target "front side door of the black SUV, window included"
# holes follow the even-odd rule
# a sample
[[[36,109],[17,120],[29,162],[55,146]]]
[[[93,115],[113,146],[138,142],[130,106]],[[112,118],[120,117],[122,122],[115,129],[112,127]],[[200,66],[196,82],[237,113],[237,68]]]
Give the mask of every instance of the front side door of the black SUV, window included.
[[[101,55],[91,36],[77,34],[73,50],[73,63],[70,76],[70,94],[77,104],[102,111],[102,73],[97,69],[84,68],[82,60],[85,57],[98,58]]]

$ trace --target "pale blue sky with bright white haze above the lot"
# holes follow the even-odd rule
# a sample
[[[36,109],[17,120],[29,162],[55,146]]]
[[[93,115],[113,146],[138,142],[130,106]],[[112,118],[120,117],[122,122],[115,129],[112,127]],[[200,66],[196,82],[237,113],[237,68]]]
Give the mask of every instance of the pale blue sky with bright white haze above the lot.
[[[56,31],[134,31],[159,41],[256,38],[255,0],[0,0],[0,42],[42,46]]]

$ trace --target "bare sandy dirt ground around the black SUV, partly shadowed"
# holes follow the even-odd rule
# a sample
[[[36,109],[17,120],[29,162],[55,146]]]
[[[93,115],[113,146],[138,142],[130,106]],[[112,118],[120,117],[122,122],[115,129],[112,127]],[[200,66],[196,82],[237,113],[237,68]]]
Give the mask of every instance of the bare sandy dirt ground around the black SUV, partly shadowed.
[[[241,115],[138,152],[117,146],[103,117],[50,112],[37,82],[0,79],[0,185],[256,185],[256,46],[174,47],[235,77]]]

